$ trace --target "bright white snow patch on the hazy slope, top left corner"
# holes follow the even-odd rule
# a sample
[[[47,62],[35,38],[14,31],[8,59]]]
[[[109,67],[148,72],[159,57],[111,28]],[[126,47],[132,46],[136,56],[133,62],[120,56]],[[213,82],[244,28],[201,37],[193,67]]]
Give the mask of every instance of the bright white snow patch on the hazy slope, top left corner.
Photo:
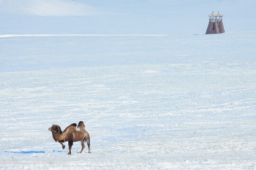
[[[94,16],[100,10],[69,0],[0,0],[0,11],[37,16]]]

